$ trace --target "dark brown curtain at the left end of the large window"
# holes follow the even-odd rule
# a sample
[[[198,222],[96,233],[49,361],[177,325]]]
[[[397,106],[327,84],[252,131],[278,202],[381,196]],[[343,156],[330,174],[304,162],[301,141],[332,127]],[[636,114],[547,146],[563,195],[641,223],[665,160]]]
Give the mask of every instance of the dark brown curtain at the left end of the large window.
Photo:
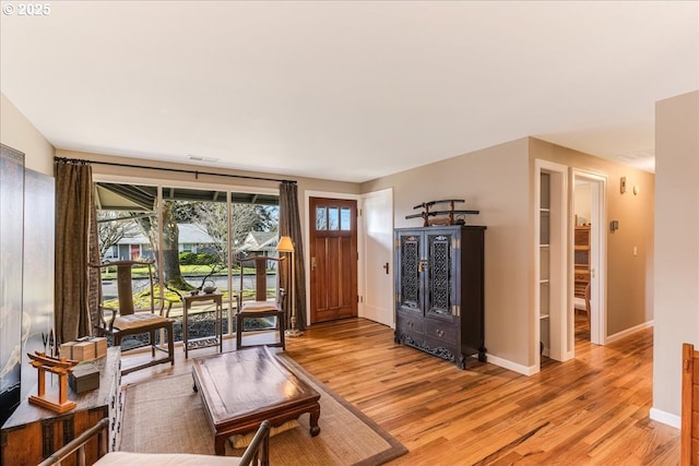
[[[57,160],[54,320],[58,343],[91,334],[87,263],[93,202],[92,167]]]

